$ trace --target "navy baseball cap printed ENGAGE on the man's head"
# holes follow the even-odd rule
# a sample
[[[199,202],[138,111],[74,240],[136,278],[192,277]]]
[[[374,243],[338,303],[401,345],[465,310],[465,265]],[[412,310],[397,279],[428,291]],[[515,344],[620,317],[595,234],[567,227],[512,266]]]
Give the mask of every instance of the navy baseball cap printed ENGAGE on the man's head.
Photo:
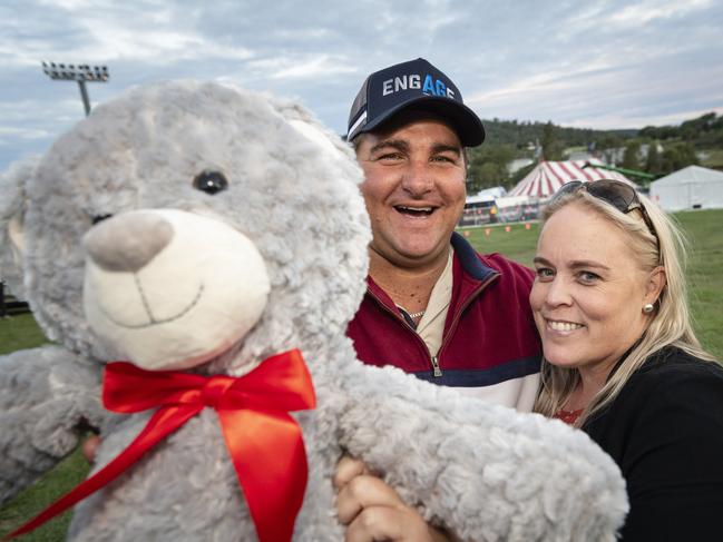
[[[349,114],[346,139],[372,131],[402,109],[414,106],[449,120],[465,147],[485,140],[485,127],[462,101],[452,80],[423,58],[375,71],[363,82]]]

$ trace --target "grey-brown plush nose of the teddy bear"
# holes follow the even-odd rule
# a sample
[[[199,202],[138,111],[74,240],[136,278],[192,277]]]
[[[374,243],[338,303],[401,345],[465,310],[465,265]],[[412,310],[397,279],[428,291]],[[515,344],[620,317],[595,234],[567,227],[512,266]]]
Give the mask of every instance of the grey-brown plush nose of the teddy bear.
[[[86,234],[84,246],[99,267],[136,273],[174,236],[172,224],[152,211],[134,211],[101,221]]]

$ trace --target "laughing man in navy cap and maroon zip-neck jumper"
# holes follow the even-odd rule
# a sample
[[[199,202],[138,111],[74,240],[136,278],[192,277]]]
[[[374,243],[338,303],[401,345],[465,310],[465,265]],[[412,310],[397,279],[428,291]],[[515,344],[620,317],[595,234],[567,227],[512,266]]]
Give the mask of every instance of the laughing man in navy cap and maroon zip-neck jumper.
[[[367,78],[348,139],[365,174],[373,234],[367,295],[348,329],[359,357],[530,411],[540,359],[533,273],[477,254],[453,233],[465,147],[485,139],[480,119],[420,58]]]

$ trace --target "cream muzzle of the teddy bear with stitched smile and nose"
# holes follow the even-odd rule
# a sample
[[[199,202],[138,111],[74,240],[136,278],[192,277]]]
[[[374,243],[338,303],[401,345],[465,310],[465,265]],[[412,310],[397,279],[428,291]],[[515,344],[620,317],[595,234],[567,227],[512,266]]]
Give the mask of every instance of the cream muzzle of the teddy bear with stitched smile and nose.
[[[240,342],[266,306],[263,257],[248,237],[214,218],[176,209],[124,213],[92,227],[84,248],[88,324],[143,368],[211,361]]]

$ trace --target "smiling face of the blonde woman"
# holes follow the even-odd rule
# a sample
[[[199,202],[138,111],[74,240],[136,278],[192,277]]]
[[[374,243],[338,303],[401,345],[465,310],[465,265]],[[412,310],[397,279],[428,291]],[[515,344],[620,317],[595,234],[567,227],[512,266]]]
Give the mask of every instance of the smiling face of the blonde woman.
[[[543,228],[530,293],[545,358],[605,377],[643,334],[648,274],[626,235],[573,203]]]

